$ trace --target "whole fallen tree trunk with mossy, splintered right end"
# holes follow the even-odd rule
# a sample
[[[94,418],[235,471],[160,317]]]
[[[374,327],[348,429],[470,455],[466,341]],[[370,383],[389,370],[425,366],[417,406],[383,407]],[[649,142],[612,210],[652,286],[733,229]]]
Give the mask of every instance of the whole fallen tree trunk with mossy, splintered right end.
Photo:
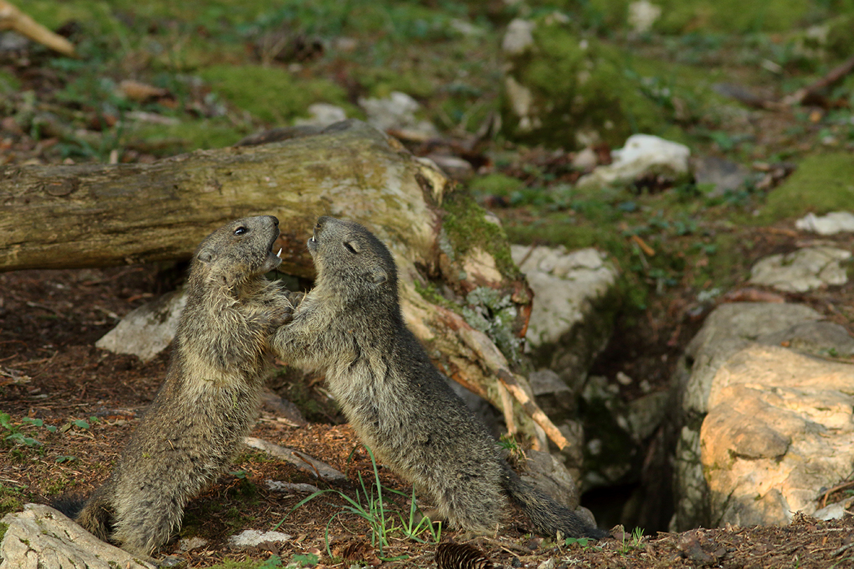
[[[0,270],[189,258],[226,221],[272,214],[282,230],[280,270],[312,278],[305,244],[316,218],[354,219],[394,253],[407,324],[434,361],[503,409],[511,431],[541,447],[544,432],[558,431],[540,412],[534,415],[541,430],[528,414],[531,401],[525,408],[518,402],[521,392],[530,398],[524,377],[516,376],[515,402],[496,379],[518,364],[512,345],[524,336],[532,295],[506,260],[500,229],[484,221],[477,206],[458,204],[447,212],[444,206],[453,201],[459,199],[441,171],[359,121],[152,165],[7,166],[0,169]],[[418,292],[437,285],[447,286],[459,302],[447,303],[441,294],[428,300]],[[486,315],[477,316],[479,329],[463,316],[465,309]],[[564,446],[562,438],[553,439]]]

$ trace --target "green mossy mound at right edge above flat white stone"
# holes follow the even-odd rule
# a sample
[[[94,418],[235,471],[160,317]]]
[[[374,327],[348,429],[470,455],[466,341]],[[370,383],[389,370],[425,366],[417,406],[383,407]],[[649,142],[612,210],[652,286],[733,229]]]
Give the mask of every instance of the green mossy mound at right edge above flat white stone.
[[[837,152],[805,158],[786,182],[768,195],[757,221],[770,224],[806,212],[823,214],[854,204],[854,154]]]

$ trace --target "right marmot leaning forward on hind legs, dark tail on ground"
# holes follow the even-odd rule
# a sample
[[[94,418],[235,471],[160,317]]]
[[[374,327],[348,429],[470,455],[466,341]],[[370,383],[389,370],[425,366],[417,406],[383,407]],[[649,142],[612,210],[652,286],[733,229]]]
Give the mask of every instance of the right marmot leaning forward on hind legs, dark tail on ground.
[[[325,371],[365,444],[436,504],[431,517],[492,532],[509,497],[543,535],[607,535],[513,472],[404,324],[395,261],[382,241],[360,224],[323,217],[308,249],[315,286],[272,349]]]

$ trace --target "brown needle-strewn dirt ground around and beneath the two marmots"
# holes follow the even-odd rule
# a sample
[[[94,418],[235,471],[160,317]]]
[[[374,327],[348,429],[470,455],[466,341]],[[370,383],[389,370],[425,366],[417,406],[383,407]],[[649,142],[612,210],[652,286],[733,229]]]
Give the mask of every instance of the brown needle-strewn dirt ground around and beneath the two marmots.
[[[15,429],[39,443],[3,440],[0,484],[4,509],[19,508],[23,502],[50,503],[67,493],[87,494],[107,477],[166,373],[168,354],[142,363],[137,357],[98,350],[94,343],[120,316],[169,287],[179,272],[145,265],[0,275],[0,409],[10,415],[11,426],[3,428]],[[322,382],[310,385],[315,401],[328,399]],[[268,489],[266,480],[272,479],[313,484],[355,497],[359,475],[369,483],[372,480],[370,457],[353,431],[340,424],[340,416],[334,411],[307,416],[314,420],[325,417],[325,421],[292,427],[265,411],[252,435],[327,462],[348,475],[347,484],[326,484],[301,469],[247,449],[233,471],[192,500],[186,510],[181,537],[202,537],[206,542],[184,551],[176,539],[159,554],[176,555],[190,567],[224,560],[265,560],[273,555],[287,562],[294,555],[306,554],[316,555],[320,566],[434,565],[436,543],[417,543],[395,533],[381,554],[371,545],[364,520],[354,514],[336,515],[344,502],[335,493],[319,496],[291,512],[306,494]],[[51,432],[49,427],[56,428]],[[383,467],[379,467],[379,475],[385,487],[411,492]],[[401,511],[408,508],[406,500],[395,496],[395,501]],[[227,543],[237,531],[270,530],[276,525],[278,531],[293,538],[252,549],[232,549]],[[558,547],[553,540],[531,537],[527,522],[513,512],[494,537],[466,540],[458,532],[447,531],[442,542],[470,543],[495,566],[511,567],[854,566],[854,519],[850,516],[831,522],[797,516],[787,527],[698,529],[655,536],[616,529],[612,534],[617,537],[600,543]],[[308,555],[308,559],[313,558]]]

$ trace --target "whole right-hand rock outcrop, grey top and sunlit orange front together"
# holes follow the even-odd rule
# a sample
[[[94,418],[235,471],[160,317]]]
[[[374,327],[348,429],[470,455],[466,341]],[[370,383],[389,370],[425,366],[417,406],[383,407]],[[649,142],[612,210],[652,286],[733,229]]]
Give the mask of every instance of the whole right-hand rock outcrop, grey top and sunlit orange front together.
[[[727,521],[784,523],[791,519],[787,503],[810,510],[804,502],[806,493],[799,489],[816,484],[811,486],[815,500],[822,485],[839,481],[832,479],[834,467],[822,468],[822,476],[828,478],[825,483],[793,474],[792,487],[784,486],[782,470],[771,473],[772,464],[783,468],[778,462],[787,455],[792,473],[798,461],[822,462],[822,452],[828,449],[812,444],[810,450],[810,441],[833,445],[832,438],[848,436],[839,427],[828,427],[844,416],[838,396],[821,393],[823,380],[798,383],[788,369],[798,363],[804,371],[795,374],[806,377],[805,370],[810,369],[810,377],[815,378],[821,373],[833,378],[851,369],[816,358],[828,354],[854,354],[854,340],[845,328],[822,322],[822,315],[807,306],[733,303],[711,313],[676,371],[682,427],[676,447],[676,514],[671,529],[714,527]],[[734,379],[736,370],[744,379]],[[848,381],[854,384],[854,379]],[[829,391],[837,389],[831,385],[836,384],[828,383]],[[828,419],[830,423],[816,415],[824,412],[816,411],[823,408],[824,398],[829,398],[825,403],[836,401],[836,410],[828,411],[835,417]],[[760,410],[767,415],[760,415]],[[847,412],[851,421],[851,404]],[[766,470],[759,461],[768,461]],[[734,474],[734,469],[741,469],[740,474]],[[815,509],[813,504],[810,511]]]

